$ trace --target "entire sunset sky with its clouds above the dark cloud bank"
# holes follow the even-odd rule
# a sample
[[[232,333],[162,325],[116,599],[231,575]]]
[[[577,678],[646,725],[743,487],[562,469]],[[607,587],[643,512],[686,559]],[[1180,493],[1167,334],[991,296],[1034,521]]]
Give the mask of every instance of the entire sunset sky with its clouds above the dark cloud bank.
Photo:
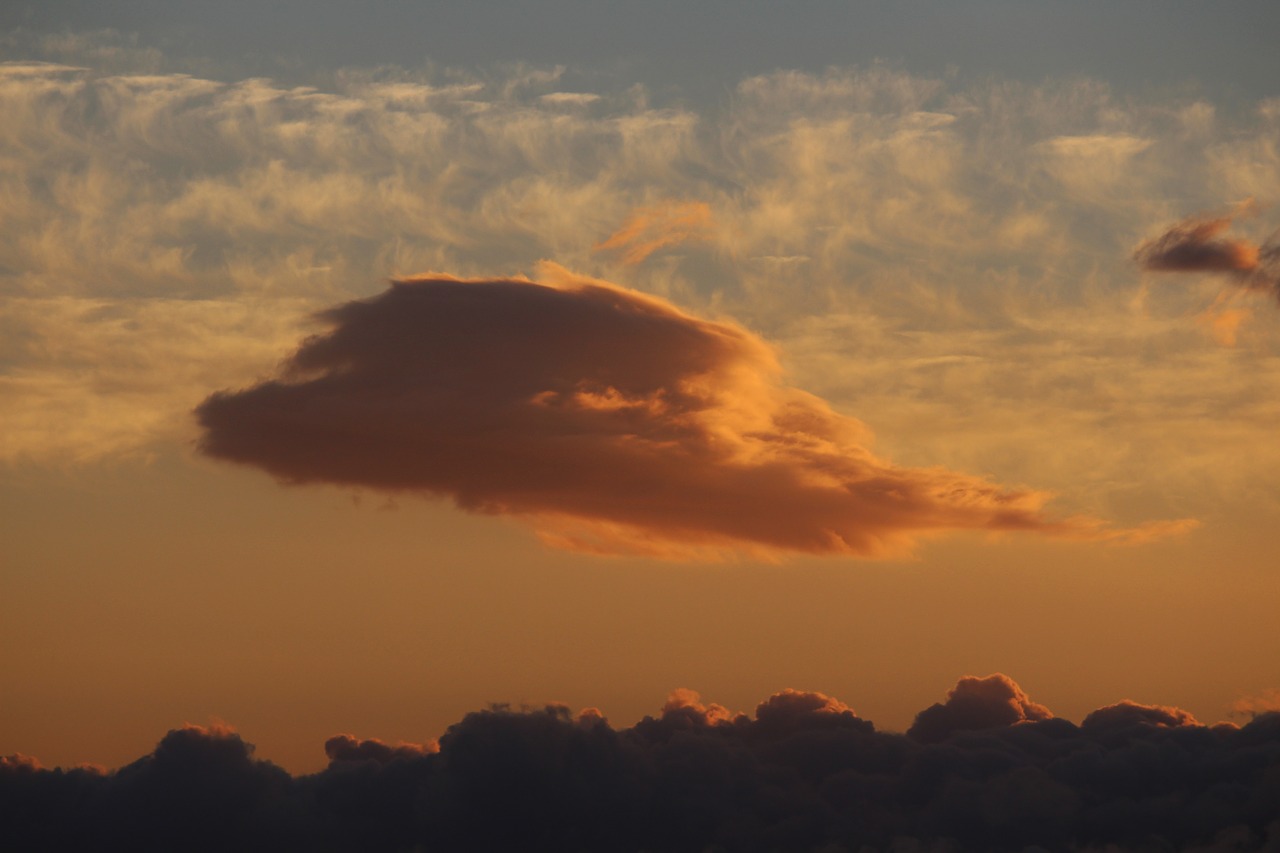
[[[681,689],[904,733],[997,672],[1243,725],[1280,688],[1277,31],[4,4],[0,754],[189,724],[302,774]]]

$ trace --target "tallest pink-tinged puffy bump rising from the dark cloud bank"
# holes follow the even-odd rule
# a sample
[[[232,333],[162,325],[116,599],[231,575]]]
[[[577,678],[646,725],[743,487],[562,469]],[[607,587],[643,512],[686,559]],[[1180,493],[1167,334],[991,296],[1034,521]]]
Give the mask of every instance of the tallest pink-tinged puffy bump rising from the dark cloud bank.
[[[1007,675],[966,675],[947,693],[946,702],[920,711],[906,734],[922,743],[937,743],[956,731],[1051,719],[1053,713],[1032,702]]]

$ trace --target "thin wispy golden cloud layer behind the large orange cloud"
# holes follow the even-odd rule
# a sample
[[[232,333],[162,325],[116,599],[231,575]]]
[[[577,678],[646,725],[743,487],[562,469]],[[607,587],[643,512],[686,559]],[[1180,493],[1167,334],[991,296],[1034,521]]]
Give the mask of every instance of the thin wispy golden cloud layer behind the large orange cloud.
[[[180,446],[204,392],[270,373],[307,311],[549,257],[735,316],[886,456],[1064,514],[1196,515],[1280,476],[1280,330],[1129,263],[1171,210],[1252,195],[1274,229],[1280,101],[870,67],[695,110],[557,68],[292,87],[63,41],[65,64],[0,64],[6,461]]]

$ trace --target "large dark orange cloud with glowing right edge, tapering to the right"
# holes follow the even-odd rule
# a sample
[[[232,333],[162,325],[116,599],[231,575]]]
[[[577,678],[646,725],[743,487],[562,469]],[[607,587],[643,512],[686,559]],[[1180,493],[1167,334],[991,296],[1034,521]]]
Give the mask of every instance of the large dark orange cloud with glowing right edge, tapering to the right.
[[[554,265],[396,282],[321,315],[279,378],[198,409],[201,450],[287,483],[452,497],[554,546],[886,555],[948,529],[1116,537],[1044,496],[900,467],[780,383],[768,345]]]

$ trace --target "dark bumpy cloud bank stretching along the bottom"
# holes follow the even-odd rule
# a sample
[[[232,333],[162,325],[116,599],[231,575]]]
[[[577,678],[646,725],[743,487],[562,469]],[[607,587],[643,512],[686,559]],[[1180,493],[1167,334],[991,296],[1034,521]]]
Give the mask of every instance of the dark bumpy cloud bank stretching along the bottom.
[[[1004,675],[905,735],[820,693],[751,717],[677,690],[630,729],[548,706],[467,715],[438,745],[338,735],[310,776],[252,752],[186,726],[110,774],[0,760],[0,849],[1280,849],[1280,713],[1123,702],[1074,725]]]

